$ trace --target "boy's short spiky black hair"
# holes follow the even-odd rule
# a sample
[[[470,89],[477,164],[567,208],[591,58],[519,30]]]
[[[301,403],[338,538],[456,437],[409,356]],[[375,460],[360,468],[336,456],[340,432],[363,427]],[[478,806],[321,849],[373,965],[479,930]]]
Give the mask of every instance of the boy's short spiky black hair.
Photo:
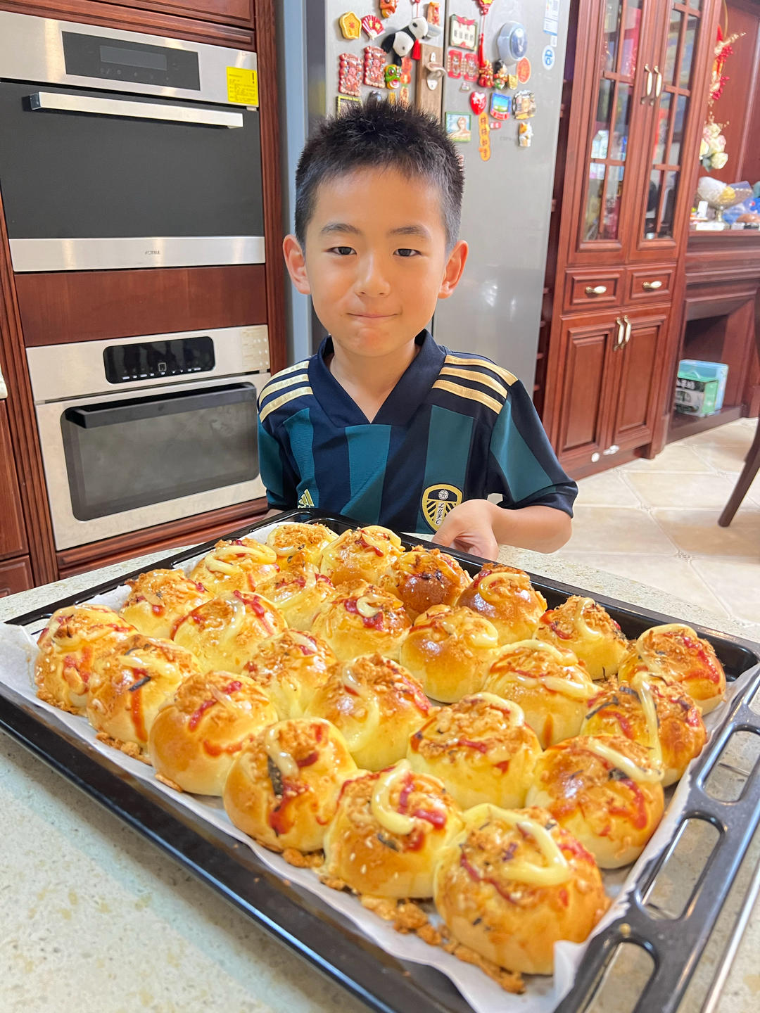
[[[296,170],[296,238],[304,247],[319,184],[355,169],[394,168],[441,189],[446,246],[459,235],[464,172],[454,144],[424,112],[370,97],[323,120],[306,142]]]

